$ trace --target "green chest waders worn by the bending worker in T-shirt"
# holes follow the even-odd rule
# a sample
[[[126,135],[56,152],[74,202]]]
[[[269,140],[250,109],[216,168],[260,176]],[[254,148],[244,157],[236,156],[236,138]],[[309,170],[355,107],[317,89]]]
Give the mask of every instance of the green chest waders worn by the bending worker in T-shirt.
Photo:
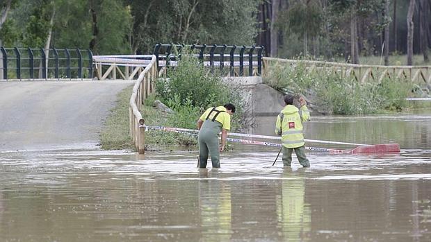
[[[218,133],[222,124],[218,121],[207,119],[199,130],[197,141],[199,143],[199,168],[206,168],[208,155],[211,155],[213,168],[220,168],[220,148],[218,144]]]

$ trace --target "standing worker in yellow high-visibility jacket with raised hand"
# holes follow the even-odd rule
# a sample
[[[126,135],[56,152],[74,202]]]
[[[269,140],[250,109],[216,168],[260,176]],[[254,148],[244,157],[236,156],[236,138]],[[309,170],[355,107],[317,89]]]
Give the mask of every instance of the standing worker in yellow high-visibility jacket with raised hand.
[[[277,116],[275,133],[282,136],[283,166],[291,166],[292,152],[295,150],[298,161],[304,167],[310,166],[305,156],[304,135],[302,134],[302,122],[310,121],[310,112],[307,102],[301,96],[299,98],[300,109],[293,105],[294,96],[284,96],[286,106]]]

